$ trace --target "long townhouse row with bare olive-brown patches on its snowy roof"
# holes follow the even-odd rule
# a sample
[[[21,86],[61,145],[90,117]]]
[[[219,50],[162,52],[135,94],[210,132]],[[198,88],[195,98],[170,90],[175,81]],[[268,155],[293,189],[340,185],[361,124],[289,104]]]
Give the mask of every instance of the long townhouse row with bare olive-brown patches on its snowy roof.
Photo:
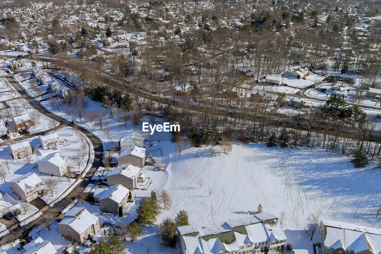
[[[178,227],[178,240],[182,254],[231,254],[282,249],[287,237],[277,217],[261,213],[209,228]]]

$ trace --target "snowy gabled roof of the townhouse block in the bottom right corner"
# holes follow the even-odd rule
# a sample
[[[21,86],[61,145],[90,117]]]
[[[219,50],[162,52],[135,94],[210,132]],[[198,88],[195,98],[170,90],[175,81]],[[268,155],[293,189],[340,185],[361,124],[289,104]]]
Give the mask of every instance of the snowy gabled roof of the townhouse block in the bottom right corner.
[[[381,230],[378,228],[322,220],[326,226],[324,245],[334,249],[360,251],[369,250],[372,253],[381,253]]]

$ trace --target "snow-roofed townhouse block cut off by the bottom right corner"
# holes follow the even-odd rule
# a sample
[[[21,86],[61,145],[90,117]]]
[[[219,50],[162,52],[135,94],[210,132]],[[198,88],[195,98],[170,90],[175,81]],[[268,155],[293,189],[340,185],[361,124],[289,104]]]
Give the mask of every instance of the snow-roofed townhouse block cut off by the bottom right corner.
[[[318,246],[324,254],[379,254],[381,229],[321,220]]]

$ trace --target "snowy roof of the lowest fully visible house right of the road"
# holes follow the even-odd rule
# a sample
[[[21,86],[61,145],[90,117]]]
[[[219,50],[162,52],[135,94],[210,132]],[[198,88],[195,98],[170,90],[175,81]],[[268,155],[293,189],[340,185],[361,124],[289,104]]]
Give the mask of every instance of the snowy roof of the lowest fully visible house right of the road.
[[[69,225],[77,233],[82,234],[91,225],[98,221],[98,217],[82,207],[73,207],[65,215],[59,224]]]

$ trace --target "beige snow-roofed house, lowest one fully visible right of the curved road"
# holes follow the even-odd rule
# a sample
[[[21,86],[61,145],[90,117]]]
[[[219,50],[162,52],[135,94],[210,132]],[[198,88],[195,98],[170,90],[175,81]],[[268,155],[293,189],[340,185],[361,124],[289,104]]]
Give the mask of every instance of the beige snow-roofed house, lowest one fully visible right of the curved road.
[[[85,242],[89,235],[95,235],[100,228],[98,217],[82,207],[70,209],[58,225],[62,236],[77,243]]]

